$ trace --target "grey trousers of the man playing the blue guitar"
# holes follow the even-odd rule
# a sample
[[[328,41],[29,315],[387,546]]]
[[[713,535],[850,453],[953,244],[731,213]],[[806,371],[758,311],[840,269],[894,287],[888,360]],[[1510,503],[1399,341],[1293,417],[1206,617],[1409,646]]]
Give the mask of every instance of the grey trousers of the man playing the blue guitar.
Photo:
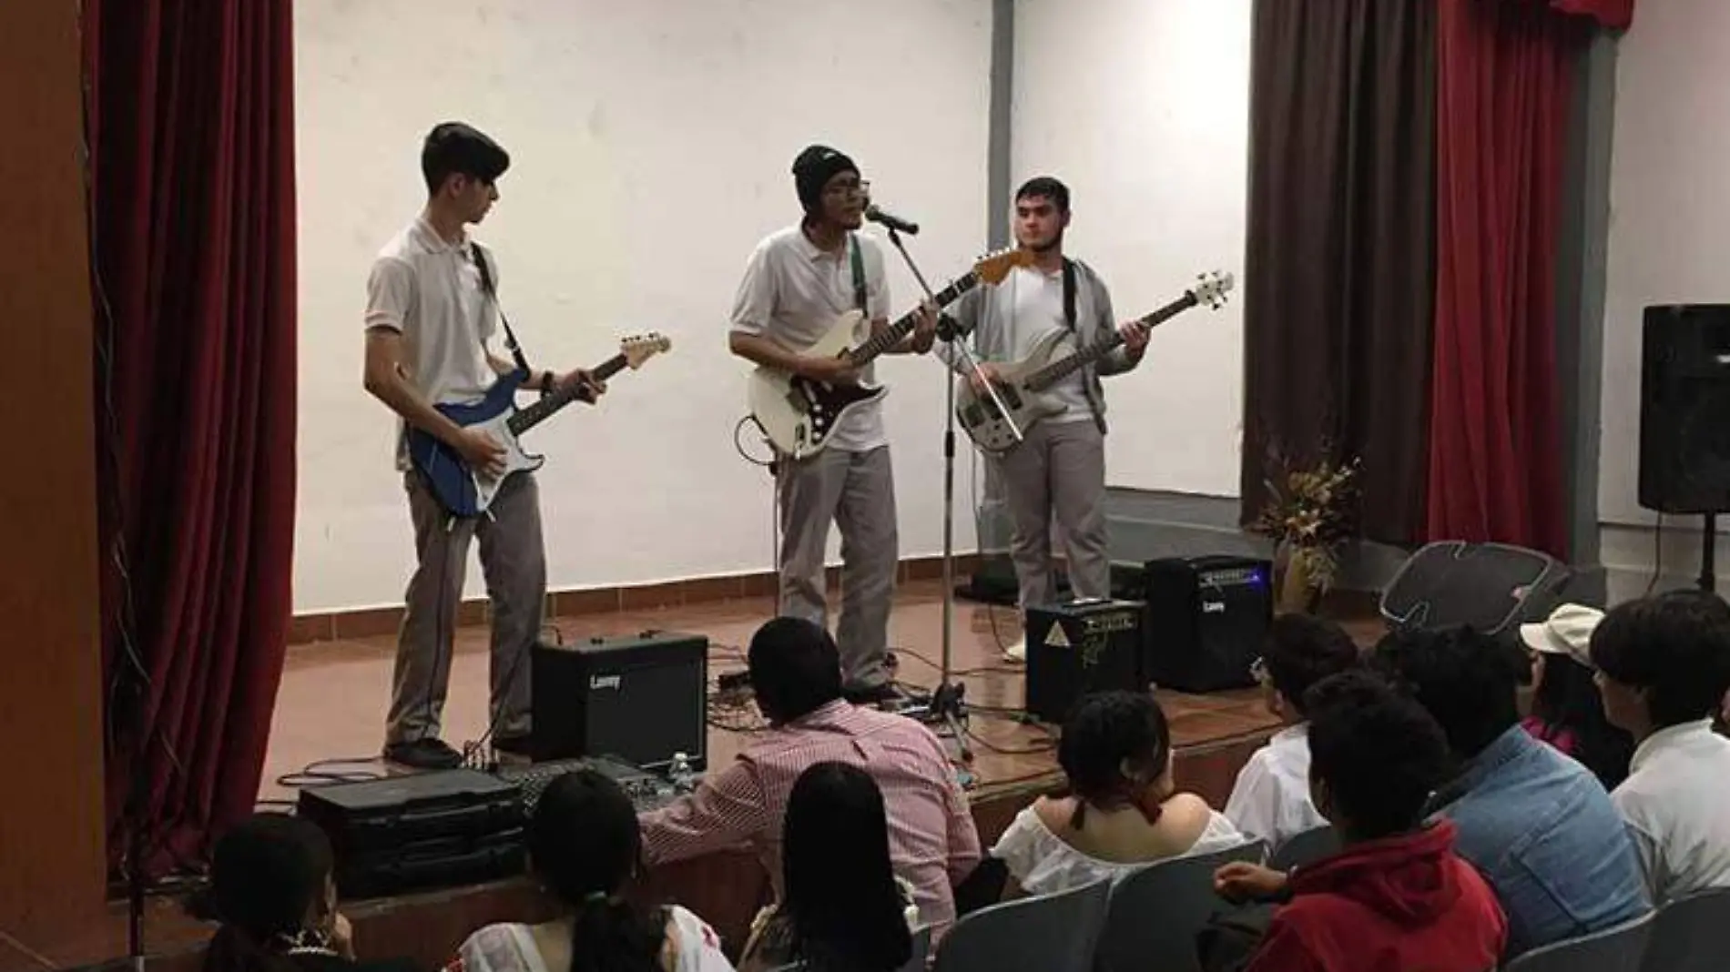
[[[493,498],[491,515],[457,519],[439,507],[419,472],[405,476],[419,564],[408,579],[396,638],[396,680],[384,740],[438,737],[457,631],[457,605],[469,567],[469,540],[481,541],[481,572],[491,598],[491,725],[498,737],[529,732],[529,649],[540,636],[547,598],[540,486],[517,472]]]

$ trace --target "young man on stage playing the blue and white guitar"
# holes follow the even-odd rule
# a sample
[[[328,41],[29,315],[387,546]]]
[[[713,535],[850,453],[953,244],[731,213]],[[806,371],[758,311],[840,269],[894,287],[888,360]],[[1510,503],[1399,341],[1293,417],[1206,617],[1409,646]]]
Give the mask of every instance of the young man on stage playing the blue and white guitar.
[[[493,747],[528,751],[528,654],[541,626],[547,555],[533,472],[503,479],[484,515],[457,517],[410,462],[408,429],[436,438],[467,467],[498,476],[505,446],[484,431],[458,425],[436,406],[476,403],[502,375],[519,370],[529,374],[522,387],[541,394],[578,386],[581,398],[593,401],[604,391],[585,370],[529,372],[516,341],[509,341],[510,361],[488,349],[500,317],[498,268],[465,227],[486,218],[509,166],[510,156],[481,131],[460,123],[432,128],[420,150],[426,209],[386,244],[367,280],[365,386],[401,419],[396,465],[419,555],[396,642],[384,756],[415,768],[462,761],[439,739],[439,716],[469,541],[476,538],[493,600]]]

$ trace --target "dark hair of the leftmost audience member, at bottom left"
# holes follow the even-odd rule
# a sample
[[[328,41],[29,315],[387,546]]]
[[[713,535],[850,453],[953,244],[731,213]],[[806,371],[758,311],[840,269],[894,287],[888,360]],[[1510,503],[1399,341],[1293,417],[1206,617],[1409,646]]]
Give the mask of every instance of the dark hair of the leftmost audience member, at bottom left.
[[[324,899],[336,856],[317,825],[258,813],[216,841],[211,884],[189,903],[194,917],[221,922],[204,953],[204,972],[289,972],[284,951]],[[306,944],[315,944],[306,941]]]

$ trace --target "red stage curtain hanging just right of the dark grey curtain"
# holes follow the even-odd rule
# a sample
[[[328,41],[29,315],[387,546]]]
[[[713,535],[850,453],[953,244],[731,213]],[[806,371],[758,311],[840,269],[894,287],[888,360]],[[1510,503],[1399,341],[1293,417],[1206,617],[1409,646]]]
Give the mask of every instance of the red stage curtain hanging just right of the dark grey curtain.
[[[1438,7],[1432,540],[1567,555],[1554,261],[1583,19],[1535,2]]]

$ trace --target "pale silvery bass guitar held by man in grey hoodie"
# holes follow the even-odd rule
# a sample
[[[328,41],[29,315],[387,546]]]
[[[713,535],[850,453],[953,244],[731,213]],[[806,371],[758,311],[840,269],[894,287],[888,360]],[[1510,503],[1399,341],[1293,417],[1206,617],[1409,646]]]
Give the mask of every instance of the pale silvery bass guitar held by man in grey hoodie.
[[[1140,318],[1137,323],[1154,327],[1197,306],[1208,304],[1218,310],[1225,304],[1225,294],[1232,289],[1230,273],[1202,273],[1201,284],[1185,291],[1182,297]],[[1064,403],[1050,394],[1052,386],[1074,374],[1083,365],[1099,361],[1119,344],[1123,332],[1112,329],[1086,348],[1076,348],[1071,332],[1057,330],[1040,341],[1033,353],[1012,365],[998,365],[996,396],[1009,408],[1014,427],[1026,434],[1041,419],[1050,419],[1064,410]],[[955,419],[962,424],[967,438],[983,451],[1002,455],[1012,450],[1021,439],[1003,420],[996,401],[990,394],[974,391],[972,382],[960,379],[955,389]]]

